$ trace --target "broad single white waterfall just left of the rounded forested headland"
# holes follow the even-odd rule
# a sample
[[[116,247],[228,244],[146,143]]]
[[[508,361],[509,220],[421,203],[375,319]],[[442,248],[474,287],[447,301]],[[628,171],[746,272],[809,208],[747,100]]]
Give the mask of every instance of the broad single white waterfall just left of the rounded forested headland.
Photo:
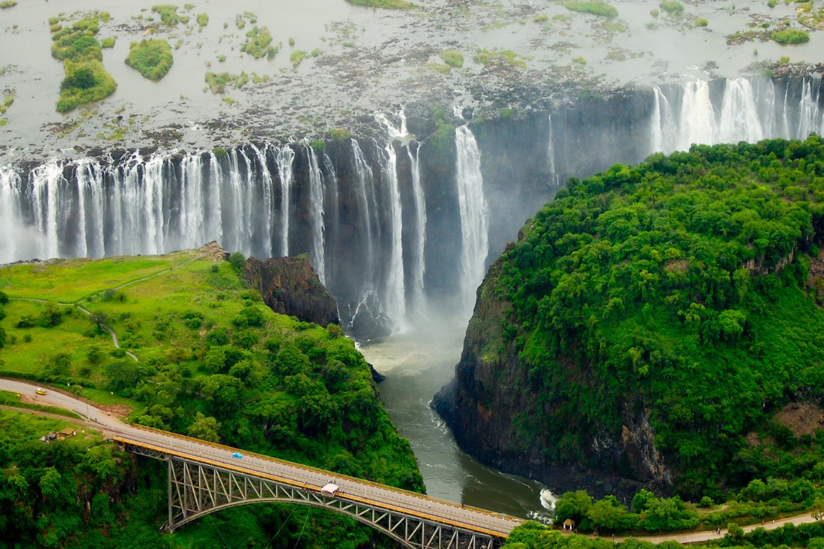
[[[467,126],[455,130],[458,206],[461,212],[461,294],[471,311],[475,291],[484,280],[489,253],[489,219],[480,174],[480,151]]]

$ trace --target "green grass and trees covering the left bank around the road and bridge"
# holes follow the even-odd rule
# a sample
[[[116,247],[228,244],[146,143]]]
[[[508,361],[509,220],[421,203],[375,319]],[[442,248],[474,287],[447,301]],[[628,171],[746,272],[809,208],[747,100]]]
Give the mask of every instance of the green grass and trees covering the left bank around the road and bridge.
[[[242,258],[213,259],[194,250],[3,268],[2,374],[70,384],[143,425],[423,491],[353,342],[335,324],[274,314],[242,284]],[[137,360],[115,349],[105,326]],[[38,440],[58,427],[0,415],[0,547],[387,542],[339,514],[294,505],[227,509],[161,537],[165,464],[92,434]]]

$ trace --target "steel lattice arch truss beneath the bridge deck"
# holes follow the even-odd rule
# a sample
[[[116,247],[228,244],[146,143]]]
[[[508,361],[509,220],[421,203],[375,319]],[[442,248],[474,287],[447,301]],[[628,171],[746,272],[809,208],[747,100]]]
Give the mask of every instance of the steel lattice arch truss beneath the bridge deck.
[[[234,471],[211,463],[164,454],[137,444],[124,444],[133,454],[163,459],[168,465],[169,519],[173,532],[185,523],[236,505],[283,502],[311,505],[348,515],[410,549],[497,549],[503,539],[449,524],[386,509],[347,495],[324,495],[313,486],[296,486],[266,475]]]

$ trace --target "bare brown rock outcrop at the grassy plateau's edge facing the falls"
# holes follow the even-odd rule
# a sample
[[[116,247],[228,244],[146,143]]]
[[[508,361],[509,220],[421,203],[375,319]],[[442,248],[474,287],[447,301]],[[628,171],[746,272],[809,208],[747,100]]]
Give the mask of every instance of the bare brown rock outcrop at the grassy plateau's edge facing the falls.
[[[340,323],[335,298],[321,284],[305,255],[296,258],[249,258],[243,277],[260,291],[275,313],[326,326]]]

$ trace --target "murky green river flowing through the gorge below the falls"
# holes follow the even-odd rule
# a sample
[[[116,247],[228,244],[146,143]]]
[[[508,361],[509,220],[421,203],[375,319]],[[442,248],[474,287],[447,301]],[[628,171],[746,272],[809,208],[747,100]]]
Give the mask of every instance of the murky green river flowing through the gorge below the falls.
[[[429,407],[455,373],[465,332],[466,322],[435,322],[360,351],[386,375],[378,390],[398,432],[412,445],[428,495],[547,522],[552,495],[545,486],[486,467],[465,454]]]

